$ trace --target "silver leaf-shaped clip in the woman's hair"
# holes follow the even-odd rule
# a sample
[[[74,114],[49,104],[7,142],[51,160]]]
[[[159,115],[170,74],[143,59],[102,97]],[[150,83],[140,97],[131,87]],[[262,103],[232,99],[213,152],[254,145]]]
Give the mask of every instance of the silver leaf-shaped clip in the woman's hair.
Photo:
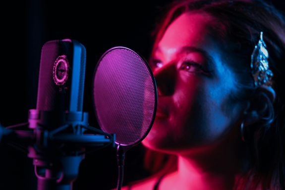
[[[260,39],[251,55],[251,73],[254,79],[255,87],[262,85],[271,87],[273,72],[269,69],[268,51],[263,41],[263,32],[260,33]]]

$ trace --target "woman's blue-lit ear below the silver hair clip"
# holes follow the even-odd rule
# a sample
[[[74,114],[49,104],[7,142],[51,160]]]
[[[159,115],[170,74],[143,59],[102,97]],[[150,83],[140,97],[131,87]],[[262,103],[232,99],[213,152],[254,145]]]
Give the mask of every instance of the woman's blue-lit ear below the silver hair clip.
[[[275,97],[275,91],[271,87],[258,87],[247,102],[247,108],[244,111],[244,125],[248,126],[258,122],[270,123],[274,114]]]

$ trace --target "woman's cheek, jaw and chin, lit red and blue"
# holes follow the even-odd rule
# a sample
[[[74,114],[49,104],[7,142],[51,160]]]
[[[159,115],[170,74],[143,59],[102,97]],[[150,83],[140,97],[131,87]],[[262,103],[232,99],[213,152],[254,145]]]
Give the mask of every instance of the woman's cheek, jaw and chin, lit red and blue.
[[[160,151],[207,148],[227,136],[237,121],[240,106],[231,100],[229,86],[180,76],[171,96],[171,117],[165,123],[155,122],[143,141],[147,147]]]

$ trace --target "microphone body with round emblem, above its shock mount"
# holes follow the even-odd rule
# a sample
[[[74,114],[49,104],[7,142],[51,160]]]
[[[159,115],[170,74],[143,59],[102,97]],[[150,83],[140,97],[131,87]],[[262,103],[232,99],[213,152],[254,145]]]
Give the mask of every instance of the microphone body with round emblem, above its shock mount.
[[[42,48],[37,110],[82,111],[85,47],[76,40],[47,42]]]

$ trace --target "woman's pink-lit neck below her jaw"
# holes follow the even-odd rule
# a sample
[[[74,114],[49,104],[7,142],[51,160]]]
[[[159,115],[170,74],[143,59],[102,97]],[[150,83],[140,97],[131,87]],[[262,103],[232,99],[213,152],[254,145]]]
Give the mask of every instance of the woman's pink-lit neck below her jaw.
[[[236,149],[232,145],[226,145],[206,153],[178,155],[178,169],[171,175],[172,184],[179,190],[233,189],[240,172],[238,153],[233,150]]]

